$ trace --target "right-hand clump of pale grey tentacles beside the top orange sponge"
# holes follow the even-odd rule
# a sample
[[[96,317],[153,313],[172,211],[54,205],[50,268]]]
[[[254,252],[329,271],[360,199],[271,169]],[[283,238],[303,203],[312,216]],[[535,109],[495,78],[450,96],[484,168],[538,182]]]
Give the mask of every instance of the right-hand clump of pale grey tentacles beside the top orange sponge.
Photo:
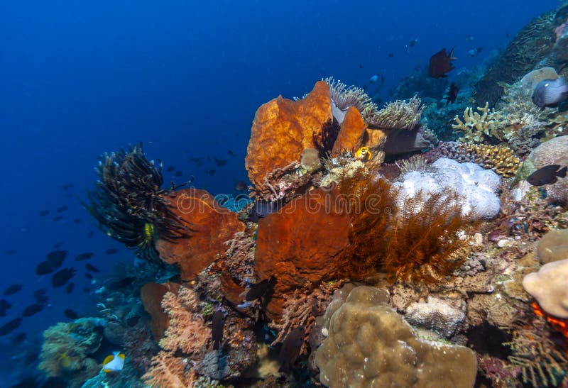
[[[418,97],[389,102],[378,112],[361,112],[370,127],[412,130],[420,123],[424,106]],[[372,114],[371,114],[372,113]]]

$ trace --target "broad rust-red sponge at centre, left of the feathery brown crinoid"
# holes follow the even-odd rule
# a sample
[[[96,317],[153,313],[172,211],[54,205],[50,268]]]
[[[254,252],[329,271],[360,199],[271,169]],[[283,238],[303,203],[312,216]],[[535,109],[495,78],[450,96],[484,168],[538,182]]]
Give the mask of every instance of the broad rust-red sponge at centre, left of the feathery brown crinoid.
[[[338,205],[336,191],[315,189],[258,223],[254,269],[258,279],[277,279],[267,306],[275,321],[289,293],[336,274],[337,258],[349,245],[349,216]]]

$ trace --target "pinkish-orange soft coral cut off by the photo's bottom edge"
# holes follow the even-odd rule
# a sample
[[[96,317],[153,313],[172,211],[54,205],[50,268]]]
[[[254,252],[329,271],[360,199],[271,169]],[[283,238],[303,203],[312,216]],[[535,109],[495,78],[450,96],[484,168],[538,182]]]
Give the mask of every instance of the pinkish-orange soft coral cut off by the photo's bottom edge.
[[[150,387],[194,387],[197,375],[185,359],[161,351],[152,357],[151,368],[142,379]]]

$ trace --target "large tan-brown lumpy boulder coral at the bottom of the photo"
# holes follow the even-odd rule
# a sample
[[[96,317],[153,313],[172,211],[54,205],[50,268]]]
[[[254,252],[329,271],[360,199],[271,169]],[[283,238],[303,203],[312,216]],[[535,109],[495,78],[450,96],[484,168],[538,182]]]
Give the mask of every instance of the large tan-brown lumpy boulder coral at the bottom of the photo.
[[[355,287],[325,316],[328,336],[317,350],[328,387],[473,387],[476,355],[463,346],[432,343],[386,304],[388,293]]]

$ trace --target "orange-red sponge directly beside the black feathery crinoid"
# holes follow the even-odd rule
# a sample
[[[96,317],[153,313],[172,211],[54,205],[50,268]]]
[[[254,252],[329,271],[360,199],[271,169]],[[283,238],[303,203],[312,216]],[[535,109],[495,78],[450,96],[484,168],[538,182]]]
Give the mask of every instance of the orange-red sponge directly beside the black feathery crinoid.
[[[160,238],[155,246],[161,260],[178,266],[182,279],[192,280],[224,253],[224,242],[244,231],[244,224],[205,190],[178,190],[170,201],[172,212],[190,223],[194,231],[187,238]]]

